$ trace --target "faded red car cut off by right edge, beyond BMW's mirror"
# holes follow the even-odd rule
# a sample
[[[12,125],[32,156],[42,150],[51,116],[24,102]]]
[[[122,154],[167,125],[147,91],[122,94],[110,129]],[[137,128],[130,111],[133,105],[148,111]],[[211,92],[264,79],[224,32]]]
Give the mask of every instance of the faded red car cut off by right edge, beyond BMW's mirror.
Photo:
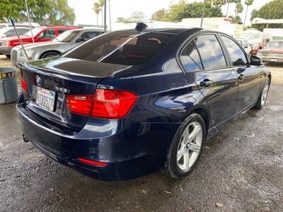
[[[271,41],[258,51],[258,57],[266,62],[283,62],[283,40]]]

